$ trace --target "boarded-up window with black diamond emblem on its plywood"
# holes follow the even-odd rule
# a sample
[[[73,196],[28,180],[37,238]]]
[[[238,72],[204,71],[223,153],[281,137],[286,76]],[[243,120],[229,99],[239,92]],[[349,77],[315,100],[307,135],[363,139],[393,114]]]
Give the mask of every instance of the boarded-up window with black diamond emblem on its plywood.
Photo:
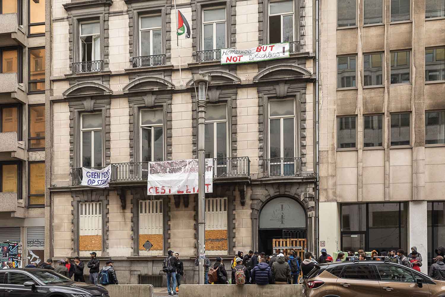
[[[139,201],[139,256],[162,256],[164,252],[162,200]],[[152,245],[147,251],[144,244]]]

